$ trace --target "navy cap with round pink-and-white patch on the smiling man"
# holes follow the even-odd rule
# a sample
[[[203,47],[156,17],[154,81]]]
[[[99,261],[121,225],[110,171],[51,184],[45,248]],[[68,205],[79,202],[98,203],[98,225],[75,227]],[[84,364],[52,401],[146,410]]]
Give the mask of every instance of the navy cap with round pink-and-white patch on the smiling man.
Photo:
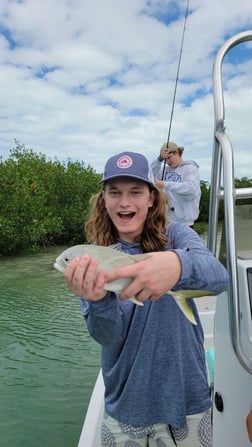
[[[137,152],[121,152],[109,158],[100,183],[116,177],[131,177],[155,186],[147,158]]]

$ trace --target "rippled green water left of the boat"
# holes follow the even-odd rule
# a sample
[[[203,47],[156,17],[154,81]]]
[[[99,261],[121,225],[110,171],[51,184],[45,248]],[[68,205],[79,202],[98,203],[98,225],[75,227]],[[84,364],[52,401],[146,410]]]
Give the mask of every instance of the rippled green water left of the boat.
[[[75,447],[100,364],[61,249],[0,258],[0,447]]]

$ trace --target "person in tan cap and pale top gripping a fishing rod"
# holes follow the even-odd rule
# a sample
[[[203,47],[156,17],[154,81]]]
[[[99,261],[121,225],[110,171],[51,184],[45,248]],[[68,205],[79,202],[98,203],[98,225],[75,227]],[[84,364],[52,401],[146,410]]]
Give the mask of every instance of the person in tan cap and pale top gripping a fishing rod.
[[[155,185],[168,195],[170,220],[192,226],[199,216],[199,166],[193,160],[184,161],[183,151],[176,143],[164,143],[151,167]]]

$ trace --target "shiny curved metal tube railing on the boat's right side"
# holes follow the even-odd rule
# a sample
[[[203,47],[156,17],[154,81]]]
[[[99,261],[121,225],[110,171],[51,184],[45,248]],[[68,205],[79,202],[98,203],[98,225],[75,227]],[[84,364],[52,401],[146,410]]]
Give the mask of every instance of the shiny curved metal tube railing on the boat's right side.
[[[222,64],[234,46],[252,40],[252,30],[239,33],[220,48],[213,65],[214,144],[209,209],[208,248],[216,254],[219,201],[224,201],[226,266],[229,272],[229,323],[232,346],[240,364],[252,374],[252,359],[244,352],[241,341],[241,312],[239,300],[237,244],[235,233],[235,203],[242,198],[252,198],[252,188],[235,188],[233,147],[225,133],[225,108],[222,88]],[[223,188],[221,187],[223,181]]]

